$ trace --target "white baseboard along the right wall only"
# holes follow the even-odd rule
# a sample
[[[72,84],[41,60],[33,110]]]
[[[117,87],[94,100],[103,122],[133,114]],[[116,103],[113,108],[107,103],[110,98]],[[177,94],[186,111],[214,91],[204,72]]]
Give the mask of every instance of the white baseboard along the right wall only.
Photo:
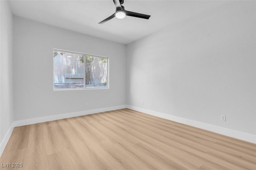
[[[193,120],[190,120],[190,119],[185,119],[185,118],[182,118],[182,117],[172,116],[172,115],[168,115],[168,114],[165,114],[165,113],[160,113],[160,112],[156,112],[156,111],[143,109],[143,108],[140,108],[140,107],[134,107],[134,106],[128,105],[127,108],[132,109],[134,111],[139,111],[139,112],[142,112],[142,113],[146,113],[148,115],[161,117],[161,118],[168,119],[168,120],[171,120],[171,121],[175,121],[175,122],[178,122],[178,123],[183,123],[183,124],[190,125],[190,126],[193,126],[193,127],[202,128],[204,130],[209,130],[209,131],[212,131],[212,132],[216,132],[216,133],[219,133],[219,134],[230,136],[230,137],[233,137],[233,138],[238,138],[238,139],[245,140],[245,141],[248,141],[248,142],[256,143],[256,135],[253,135],[253,134],[239,132],[239,131],[236,131],[236,130],[223,128],[223,127],[218,127],[218,126],[210,125],[210,124],[207,124],[207,123],[197,122],[197,121],[193,121]]]

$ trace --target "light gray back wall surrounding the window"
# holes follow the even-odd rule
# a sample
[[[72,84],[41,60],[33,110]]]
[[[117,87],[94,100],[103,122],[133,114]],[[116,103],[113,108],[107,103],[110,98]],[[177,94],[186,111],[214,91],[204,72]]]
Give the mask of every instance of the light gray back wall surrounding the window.
[[[126,45],[16,16],[13,24],[15,121],[126,104]],[[109,57],[110,89],[53,91],[53,48]]]

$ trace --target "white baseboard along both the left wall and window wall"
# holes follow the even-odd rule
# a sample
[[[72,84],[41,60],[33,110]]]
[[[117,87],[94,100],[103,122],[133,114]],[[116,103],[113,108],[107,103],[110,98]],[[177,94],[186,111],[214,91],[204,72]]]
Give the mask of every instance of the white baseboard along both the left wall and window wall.
[[[124,109],[124,108],[127,108],[127,105],[105,107],[105,108],[93,109],[93,110],[88,110],[88,111],[65,113],[65,114],[60,114],[60,115],[52,115],[52,116],[46,116],[46,117],[38,117],[38,118],[33,118],[33,119],[24,119],[24,120],[20,120],[20,121],[14,121],[0,144],[0,157],[2,156],[2,153],[4,152],[4,148],[6,147],[6,144],[8,143],[8,140],[10,139],[10,136],[12,134],[14,127],[31,125],[31,124],[42,123],[42,122],[47,122],[47,121],[55,121],[55,120],[66,119],[66,118],[70,118],[70,117],[90,115],[90,114],[106,112],[106,111],[114,111],[114,110]]]

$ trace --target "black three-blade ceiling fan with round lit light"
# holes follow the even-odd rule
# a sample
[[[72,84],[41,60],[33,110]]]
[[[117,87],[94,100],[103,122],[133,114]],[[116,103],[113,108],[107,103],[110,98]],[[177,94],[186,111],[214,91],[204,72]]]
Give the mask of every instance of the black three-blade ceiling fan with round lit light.
[[[122,19],[125,16],[133,16],[133,17],[137,17],[137,18],[144,18],[144,19],[147,19],[147,20],[148,20],[148,18],[150,18],[150,15],[140,14],[140,13],[137,13],[137,12],[126,11],[124,9],[124,6],[121,5],[121,4],[124,3],[124,0],[113,0],[113,1],[114,1],[115,6],[116,6],[116,12],[114,14],[112,14],[111,16],[109,16],[108,18],[106,18],[105,20],[102,20],[98,24],[103,24],[103,23],[107,22],[108,20],[111,20],[114,17]]]

